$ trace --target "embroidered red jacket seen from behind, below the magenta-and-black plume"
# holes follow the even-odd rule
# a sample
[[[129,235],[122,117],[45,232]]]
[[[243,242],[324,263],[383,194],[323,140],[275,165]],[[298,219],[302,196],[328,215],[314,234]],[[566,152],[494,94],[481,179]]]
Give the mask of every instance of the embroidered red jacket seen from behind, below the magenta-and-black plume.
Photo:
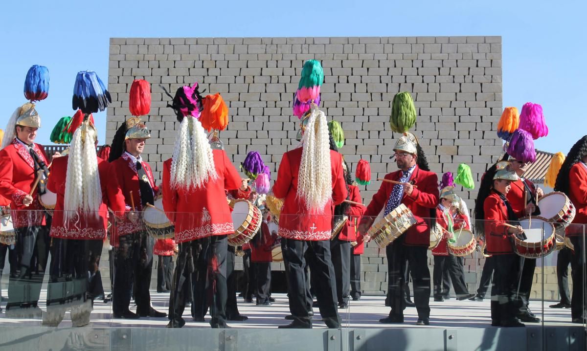
[[[238,189],[241,177],[224,150],[212,154],[218,178],[192,190],[172,189],[171,158],[163,163],[163,209],[176,226],[177,243],[234,233],[225,190]]]

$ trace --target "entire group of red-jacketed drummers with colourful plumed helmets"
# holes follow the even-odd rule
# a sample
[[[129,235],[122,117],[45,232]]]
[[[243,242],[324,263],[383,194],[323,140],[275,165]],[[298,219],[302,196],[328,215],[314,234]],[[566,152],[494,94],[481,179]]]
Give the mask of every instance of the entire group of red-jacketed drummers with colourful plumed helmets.
[[[69,149],[49,160],[34,142],[41,117],[33,103],[48,95],[48,71],[31,67],[25,81],[29,102],[12,114],[0,150],[0,200],[6,208],[0,233],[2,269],[7,254],[10,262],[6,315],[42,315],[43,325],[57,326],[70,311],[73,326],[87,325],[93,301],[103,295],[103,245],[112,245],[114,318],[167,317],[168,328],[181,328],[190,306],[194,321],[203,322],[209,312],[212,328],[227,328],[230,320],[247,319],[238,311],[235,257],[243,255],[248,276],[242,297],[248,302],[255,297],[257,305],[266,306],[274,302],[271,262],[277,252],[285,265],[291,312],[286,316],[291,323],[279,328],[312,328],[313,307],[319,308],[328,328],[340,328],[338,309],[346,308],[349,299],[360,299],[360,255],[366,242],[374,241],[384,248],[388,267],[390,311],[381,323],[403,323],[404,309],[414,306],[416,324],[429,325],[431,295],[444,301],[452,282],[458,300],[480,301],[492,277],[491,324],[524,326],[522,322],[539,321],[528,308],[536,259],[558,247],[562,234],[560,246],[566,242],[568,248],[559,251],[559,280],[566,285],[570,262],[573,292],[569,298],[568,288],[561,287],[561,302],[552,307],[570,307],[572,322],[585,322],[587,136],[553,171],[554,189],[566,199],[568,210],[555,218],[545,213],[550,208],[541,209],[541,199],[549,194],[521,178],[536,157],[532,140],[548,132],[541,107],[525,104],[520,115],[507,107],[498,130],[506,141],[504,153],[483,174],[473,223],[457,194],[457,185],[474,187],[470,168],[461,164],[454,181],[446,173],[439,183],[419,140],[408,131],[416,121],[411,96],[399,93],[390,119],[392,130],[403,134],[390,158],[398,170],[381,179],[365,206],[359,190],[371,181],[369,165],[360,160],[353,180],[339,152],[340,124],[328,122],[319,109],[322,82],[320,63],[306,62],[294,98],[299,145],[279,161],[272,187],[271,170],[258,153],[245,158],[242,178],[217,134],[207,135],[206,130],[228,124],[220,94],[202,96],[197,83],[178,88],[174,96],[166,92],[179,130],[173,156],[163,162],[162,183],[156,185],[141,156],[151,136],[140,119],[149,114],[149,83],[133,82],[133,117],[120,125],[112,145],[97,154],[92,113],[106,108],[110,94],[95,72],[78,73],[76,113],[63,117],[51,134],[52,141],[67,143]],[[559,220],[553,227],[557,241],[525,245],[525,234],[534,228],[530,221],[535,218],[536,224],[540,215]],[[244,221],[235,220],[242,216]],[[472,294],[465,284],[463,257],[475,247],[487,259],[479,290]],[[154,255],[157,291],[170,293],[167,313],[151,303]],[[45,271],[49,284],[42,311],[38,302]],[[130,311],[133,299],[136,312]]]

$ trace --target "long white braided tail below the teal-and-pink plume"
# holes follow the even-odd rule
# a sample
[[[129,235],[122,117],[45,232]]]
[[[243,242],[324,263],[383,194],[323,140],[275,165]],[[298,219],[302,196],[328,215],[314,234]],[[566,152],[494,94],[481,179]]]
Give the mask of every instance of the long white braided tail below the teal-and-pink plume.
[[[332,172],[328,122],[318,108],[312,109],[302,143],[297,196],[305,201],[311,213],[321,213],[332,198]]]

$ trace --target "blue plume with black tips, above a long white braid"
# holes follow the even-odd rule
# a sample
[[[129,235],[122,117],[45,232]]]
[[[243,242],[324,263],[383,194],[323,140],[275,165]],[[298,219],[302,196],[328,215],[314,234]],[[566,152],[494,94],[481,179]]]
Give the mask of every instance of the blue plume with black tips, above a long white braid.
[[[72,107],[80,109],[83,113],[96,113],[103,111],[112,102],[110,93],[96,72],[85,70],[77,73],[73,86]]]

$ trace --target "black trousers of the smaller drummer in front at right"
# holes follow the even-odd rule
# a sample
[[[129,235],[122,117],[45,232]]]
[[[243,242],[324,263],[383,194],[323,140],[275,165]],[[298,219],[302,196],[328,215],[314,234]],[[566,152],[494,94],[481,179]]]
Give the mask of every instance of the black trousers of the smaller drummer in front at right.
[[[522,306],[517,294],[521,257],[516,254],[494,255],[494,279],[491,288],[491,320],[497,323],[515,318]]]

